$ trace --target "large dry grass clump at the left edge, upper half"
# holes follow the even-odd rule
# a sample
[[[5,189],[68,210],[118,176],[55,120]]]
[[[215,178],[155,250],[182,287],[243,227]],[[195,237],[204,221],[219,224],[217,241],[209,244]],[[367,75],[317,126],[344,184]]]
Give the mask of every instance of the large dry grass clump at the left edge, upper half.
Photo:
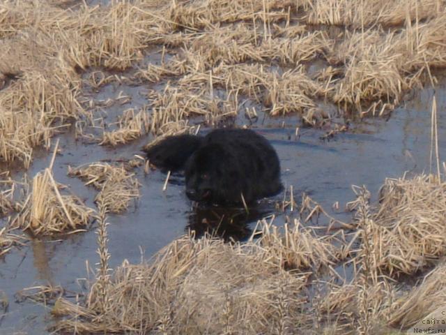
[[[20,54],[20,45],[13,44],[10,48],[19,47]],[[54,73],[50,73],[45,64],[42,64],[43,70],[29,70],[27,66],[30,65],[25,65],[29,57],[15,59],[16,55],[17,52],[8,52],[0,61],[3,73],[15,74],[15,80],[0,91],[0,159],[21,161],[28,167],[32,148],[48,146],[50,137],[59,127],[82,114],[82,107],[77,102],[77,75],[63,62],[54,61],[58,66]]]

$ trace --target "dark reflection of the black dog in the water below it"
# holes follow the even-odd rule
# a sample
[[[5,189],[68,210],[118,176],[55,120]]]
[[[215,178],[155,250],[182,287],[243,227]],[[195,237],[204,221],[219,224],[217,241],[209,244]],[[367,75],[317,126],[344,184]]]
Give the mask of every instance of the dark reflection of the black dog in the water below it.
[[[196,206],[190,212],[186,230],[194,233],[196,238],[205,233],[221,237],[225,241],[246,241],[252,235],[256,221],[261,220],[271,209]]]

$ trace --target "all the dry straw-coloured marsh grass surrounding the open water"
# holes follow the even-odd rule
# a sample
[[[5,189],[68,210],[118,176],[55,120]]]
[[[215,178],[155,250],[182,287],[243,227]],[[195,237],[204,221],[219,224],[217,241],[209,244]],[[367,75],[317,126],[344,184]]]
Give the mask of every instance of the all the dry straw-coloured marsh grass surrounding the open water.
[[[444,0],[136,0],[72,10],[61,4],[68,6],[0,4],[1,161],[29,166],[33,148],[49,148],[72,121],[79,134],[86,135],[84,124],[100,127],[102,138],[89,138],[118,145],[145,133],[192,132],[192,118],[217,124],[246,112],[246,101],[256,104],[251,114],[256,108],[273,117],[298,114],[307,126],[330,122],[321,101],[337,105],[341,116],[385,114],[424,82],[423,73],[446,66]],[[151,64],[145,52],[158,45],[160,64]],[[311,73],[315,59],[321,66]],[[91,76],[82,80],[87,71]],[[84,94],[112,82],[151,82],[151,91],[146,107],[105,124],[94,109],[107,113],[130,98],[89,105]],[[442,304],[442,264],[413,290],[399,292],[402,275],[420,273],[445,255],[445,186],[438,178],[387,180],[378,209],[358,191],[353,223],[336,221],[304,197],[302,223],[283,231],[259,223],[263,236],[243,246],[183,237],[148,264],[124,262],[110,272],[106,214],[125,211],[139,196],[137,180],[102,163],[71,173],[100,191],[100,262],[85,301],[57,302],[54,313],[68,314],[61,331],[379,334],[380,324],[409,327],[434,313],[429,299]],[[12,188],[2,188],[0,211],[19,209],[14,223],[34,234],[83,230],[93,211],[61,188],[50,165],[34,177],[23,204],[15,204]],[[282,206],[291,211],[292,194]],[[307,226],[319,214],[330,221],[322,228],[337,233]],[[10,228],[0,231],[0,253],[16,243]],[[352,267],[353,278],[334,284],[331,278],[345,280],[341,262]],[[309,295],[319,285],[321,292]]]

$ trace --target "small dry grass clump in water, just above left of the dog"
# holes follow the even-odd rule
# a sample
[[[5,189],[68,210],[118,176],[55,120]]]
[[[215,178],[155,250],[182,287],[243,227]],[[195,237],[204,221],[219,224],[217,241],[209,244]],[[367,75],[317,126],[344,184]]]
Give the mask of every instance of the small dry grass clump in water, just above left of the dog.
[[[134,109],[125,110],[117,122],[118,129],[115,131],[104,131],[100,144],[116,146],[137,139],[148,132],[149,117],[146,108],[139,112]]]

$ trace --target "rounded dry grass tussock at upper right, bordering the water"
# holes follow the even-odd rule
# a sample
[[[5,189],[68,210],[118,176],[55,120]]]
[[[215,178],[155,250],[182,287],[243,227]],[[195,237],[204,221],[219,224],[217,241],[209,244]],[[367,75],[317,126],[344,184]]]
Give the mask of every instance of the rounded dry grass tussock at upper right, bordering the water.
[[[341,45],[341,50],[348,50],[346,69],[336,84],[334,103],[346,111],[353,108],[371,115],[382,115],[399,104],[402,94],[415,82],[409,82],[402,73],[403,55],[395,52],[395,39],[389,35],[383,40],[374,32],[358,33],[347,39],[348,45]],[[355,49],[359,51],[352,54]]]

